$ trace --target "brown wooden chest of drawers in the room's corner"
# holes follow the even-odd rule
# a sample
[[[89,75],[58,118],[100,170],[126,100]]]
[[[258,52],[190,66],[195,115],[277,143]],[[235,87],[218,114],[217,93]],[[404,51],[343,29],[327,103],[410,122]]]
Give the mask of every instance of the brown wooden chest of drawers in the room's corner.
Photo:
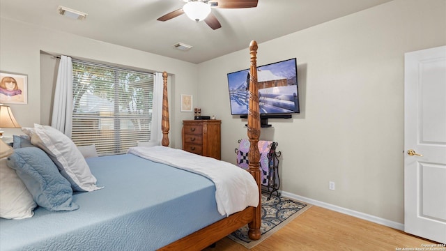
[[[221,160],[220,125],[222,121],[183,121],[183,150]]]

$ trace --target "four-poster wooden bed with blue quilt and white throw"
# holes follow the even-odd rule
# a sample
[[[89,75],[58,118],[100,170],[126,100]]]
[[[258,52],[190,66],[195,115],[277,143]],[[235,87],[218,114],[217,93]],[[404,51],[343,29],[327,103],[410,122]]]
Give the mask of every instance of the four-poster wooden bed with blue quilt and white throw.
[[[57,196],[64,197],[64,203],[58,205],[61,210],[49,211],[38,206],[31,218],[1,218],[0,250],[202,250],[246,224],[249,225],[249,238],[259,239],[261,174],[257,142],[260,119],[255,41],[249,45],[249,50],[247,135],[251,147],[247,172],[227,162],[168,147],[169,109],[167,73],[164,72],[162,146],[134,147],[124,155],[86,158],[89,172],[97,179],[97,182],[88,181],[94,183],[91,192],[59,191]],[[29,147],[24,153],[24,149],[26,147],[15,149],[15,155],[27,156],[29,152],[41,155],[42,151]],[[178,157],[166,158],[171,155]],[[10,158],[8,165],[19,162],[13,155]],[[39,164],[45,161],[40,160]],[[217,169],[224,169],[233,176],[220,178]],[[19,169],[16,170],[19,174]],[[66,175],[68,178],[63,182],[69,181],[70,185],[75,178],[70,179],[69,171]],[[227,188],[227,184],[226,187],[222,185],[225,180],[235,180],[236,191]],[[54,184],[60,190],[63,182],[52,180],[45,185]],[[255,192],[252,192],[253,184]],[[44,193],[36,198],[31,193],[34,200],[54,207],[53,197]]]

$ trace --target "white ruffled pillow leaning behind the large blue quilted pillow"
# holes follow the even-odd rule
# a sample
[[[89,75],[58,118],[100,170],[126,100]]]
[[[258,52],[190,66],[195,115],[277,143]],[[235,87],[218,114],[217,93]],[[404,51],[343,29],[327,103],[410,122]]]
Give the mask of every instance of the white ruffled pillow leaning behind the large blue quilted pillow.
[[[75,143],[51,126],[34,124],[31,144],[43,149],[51,158],[75,191],[98,190],[96,178]]]

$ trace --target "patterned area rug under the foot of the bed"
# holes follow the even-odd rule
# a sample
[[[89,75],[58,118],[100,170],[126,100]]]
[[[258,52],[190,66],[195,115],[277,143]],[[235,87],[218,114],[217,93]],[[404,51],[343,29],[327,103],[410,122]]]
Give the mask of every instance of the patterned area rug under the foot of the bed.
[[[271,195],[270,199],[268,199],[269,196],[269,193],[262,192],[262,222],[260,227],[262,236],[259,240],[252,241],[249,239],[247,225],[234,231],[227,237],[248,249],[253,248],[312,206],[277,195]]]

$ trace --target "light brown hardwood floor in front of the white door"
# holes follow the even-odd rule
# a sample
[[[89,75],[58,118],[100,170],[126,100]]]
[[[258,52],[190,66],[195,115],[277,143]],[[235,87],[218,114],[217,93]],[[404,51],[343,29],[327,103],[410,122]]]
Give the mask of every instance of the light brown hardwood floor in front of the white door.
[[[367,220],[312,206],[251,250],[429,250],[429,247],[423,246],[428,244],[436,243]],[[237,251],[247,248],[229,238],[223,238],[215,248],[205,250]],[[446,251],[446,248],[438,251]]]

